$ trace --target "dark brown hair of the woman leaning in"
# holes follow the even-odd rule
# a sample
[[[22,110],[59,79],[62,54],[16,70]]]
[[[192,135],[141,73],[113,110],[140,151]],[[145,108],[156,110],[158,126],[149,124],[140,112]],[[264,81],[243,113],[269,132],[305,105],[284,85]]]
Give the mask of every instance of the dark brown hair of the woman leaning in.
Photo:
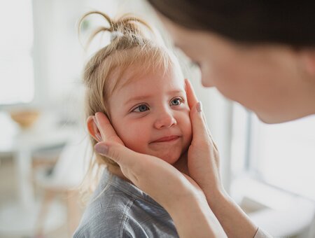
[[[148,1],[189,29],[214,31],[242,43],[315,46],[315,1]]]

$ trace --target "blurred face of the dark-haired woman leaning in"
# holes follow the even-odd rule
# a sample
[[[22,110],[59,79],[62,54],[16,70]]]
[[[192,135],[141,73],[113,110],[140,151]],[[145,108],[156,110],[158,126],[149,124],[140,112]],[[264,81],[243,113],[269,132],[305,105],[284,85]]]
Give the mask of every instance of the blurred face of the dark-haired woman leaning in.
[[[199,64],[202,85],[215,86],[265,123],[280,123],[314,111],[314,80],[302,80],[300,52],[284,45],[240,45],[162,17],[174,44]],[[313,82],[311,82],[313,81]]]

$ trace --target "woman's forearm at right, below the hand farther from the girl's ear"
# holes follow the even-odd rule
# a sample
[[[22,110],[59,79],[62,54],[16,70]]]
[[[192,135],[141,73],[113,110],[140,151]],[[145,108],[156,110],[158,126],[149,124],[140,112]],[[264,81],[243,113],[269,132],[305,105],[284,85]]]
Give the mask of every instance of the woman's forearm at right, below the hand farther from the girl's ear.
[[[241,210],[241,208],[227,195],[221,193],[206,193],[209,207],[221,223],[228,237],[253,238],[257,226]]]

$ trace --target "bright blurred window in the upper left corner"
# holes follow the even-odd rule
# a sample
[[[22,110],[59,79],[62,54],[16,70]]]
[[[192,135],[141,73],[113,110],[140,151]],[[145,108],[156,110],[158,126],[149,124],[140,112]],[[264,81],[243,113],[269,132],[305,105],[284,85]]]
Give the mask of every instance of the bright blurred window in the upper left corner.
[[[0,105],[29,103],[34,97],[31,0],[0,3]]]

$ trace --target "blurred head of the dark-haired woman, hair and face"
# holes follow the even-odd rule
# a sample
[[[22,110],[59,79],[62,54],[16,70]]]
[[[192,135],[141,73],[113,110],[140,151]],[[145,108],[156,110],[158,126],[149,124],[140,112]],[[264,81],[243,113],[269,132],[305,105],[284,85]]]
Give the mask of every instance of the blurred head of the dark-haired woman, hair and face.
[[[174,43],[200,65],[203,85],[217,87],[266,123],[315,113],[310,6],[299,10],[290,3],[258,1],[150,2]]]

